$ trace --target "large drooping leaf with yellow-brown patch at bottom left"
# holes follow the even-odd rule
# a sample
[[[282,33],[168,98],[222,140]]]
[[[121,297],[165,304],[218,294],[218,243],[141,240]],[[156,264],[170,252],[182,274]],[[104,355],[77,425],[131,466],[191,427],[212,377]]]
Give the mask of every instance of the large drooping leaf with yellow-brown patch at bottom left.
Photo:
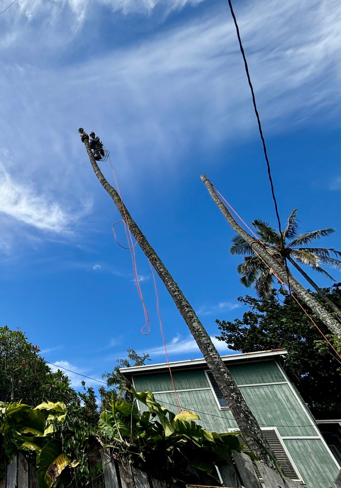
[[[69,464],[62,451],[61,442],[53,439],[44,446],[39,455],[38,485],[39,488],[51,488],[61,471]]]

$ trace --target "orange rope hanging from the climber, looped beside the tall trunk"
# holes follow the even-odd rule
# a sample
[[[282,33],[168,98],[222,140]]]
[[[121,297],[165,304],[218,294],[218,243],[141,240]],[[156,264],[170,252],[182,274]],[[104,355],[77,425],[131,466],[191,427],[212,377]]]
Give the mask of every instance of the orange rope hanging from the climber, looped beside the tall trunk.
[[[118,192],[118,194],[120,196],[120,201],[121,201],[121,204],[122,204],[122,208],[123,208],[123,212],[124,212],[124,219],[125,219],[125,220],[121,219],[120,221],[115,222],[113,224],[113,226],[112,226],[112,229],[113,229],[113,233],[114,233],[114,237],[115,237],[116,243],[119,244],[119,246],[122,247],[123,249],[129,249],[130,250],[130,254],[131,254],[132,262],[133,262],[133,269],[134,269],[135,281],[136,281],[136,285],[137,285],[137,288],[138,288],[138,291],[139,291],[140,299],[141,299],[141,302],[142,302],[142,305],[143,305],[144,316],[145,316],[145,319],[146,319],[146,325],[142,328],[141,332],[142,332],[143,335],[148,335],[149,332],[150,332],[149,314],[148,314],[147,307],[146,307],[146,305],[144,303],[142,291],[141,291],[141,288],[140,288],[139,274],[138,274],[138,270],[137,270],[136,255],[135,255],[135,247],[138,244],[139,238],[143,234],[140,234],[137,237],[136,243],[134,244],[133,243],[133,236],[131,234],[131,231],[130,231],[130,228],[129,228],[129,224],[128,224],[127,215],[126,215],[126,212],[125,212],[125,207],[124,207],[123,200],[122,200],[122,197],[121,197],[121,194],[120,194],[120,188],[119,188],[119,185],[117,183],[117,179],[116,179],[116,175],[115,175],[115,170],[114,170],[114,167],[113,167],[113,165],[111,163],[110,156],[109,156],[109,161],[110,161],[111,170],[112,170],[113,175],[114,175],[117,192]],[[127,237],[128,247],[122,246],[118,242],[118,240],[117,240],[117,236],[116,236],[116,233],[115,233],[115,225],[116,224],[119,224],[120,222],[123,222],[123,224],[124,224],[124,230],[125,230],[125,234],[126,234],[126,237]],[[158,293],[158,287],[157,287],[157,284],[156,284],[155,273],[154,273],[153,266],[152,266],[151,262],[149,261],[149,259],[148,259],[148,262],[149,262],[150,269],[152,270],[152,275],[153,275],[153,281],[154,281],[154,287],[155,287],[155,294],[156,294],[156,303],[157,303],[157,308],[158,308],[158,315],[159,315],[160,329],[161,329],[161,334],[162,334],[164,351],[165,351],[165,354],[166,354],[166,361],[167,361],[167,365],[168,365],[168,369],[169,369],[169,374],[170,374],[171,381],[172,381],[172,386],[173,386],[173,389],[174,389],[175,398],[177,400],[177,404],[178,404],[179,410],[182,411],[182,408],[181,408],[181,405],[180,405],[180,400],[179,400],[179,397],[178,397],[178,392],[177,392],[177,389],[176,389],[176,386],[175,386],[175,382],[174,382],[174,378],[173,378],[173,375],[172,375],[172,369],[171,369],[171,366],[170,366],[170,363],[169,363],[169,358],[168,358],[168,351],[167,351],[167,346],[166,346],[166,339],[165,339],[164,332],[163,332],[162,319],[161,319],[161,313],[160,313],[159,293]],[[148,331],[147,332],[144,332],[144,330],[146,328],[147,328]]]

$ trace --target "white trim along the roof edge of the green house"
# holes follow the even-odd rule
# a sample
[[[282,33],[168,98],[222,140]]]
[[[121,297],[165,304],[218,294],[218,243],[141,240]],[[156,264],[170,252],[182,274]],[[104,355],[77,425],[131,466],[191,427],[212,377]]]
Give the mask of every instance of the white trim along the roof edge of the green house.
[[[228,361],[236,361],[236,360],[245,360],[245,359],[254,359],[254,358],[271,358],[272,356],[281,356],[287,354],[285,349],[281,350],[272,350],[272,351],[261,351],[261,352],[247,352],[247,353],[238,353],[238,354],[230,354],[228,356],[221,356],[221,359],[224,362]],[[190,359],[187,361],[175,361],[169,363],[172,367],[181,367],[181,366],[206,366],[206,361],[204,359]],[[155,369],[166,369],[168,368],[167,363],[158,363],[154,365],[144,365],[144,366],[132,366],[132,367],[123,367],[120,368],[120,372],[122,374],[129,374],[129,373],[138,373],[141,371],[150,372]]]

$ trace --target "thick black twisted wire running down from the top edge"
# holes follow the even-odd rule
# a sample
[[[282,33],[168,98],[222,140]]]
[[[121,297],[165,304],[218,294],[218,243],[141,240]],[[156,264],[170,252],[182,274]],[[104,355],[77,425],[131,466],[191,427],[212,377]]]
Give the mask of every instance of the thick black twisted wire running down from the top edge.
[[[289,295],[291,297],[291,287],[290,287],[290,281],[289,281],[289,274],[290,274],[290,272],[289,272],[289,268],[288,268],[288,263],[286,261],[285,243],[284,243],[284,237],[283,237],[282,230],[281,230],[281,219],[280,219],[280,214],[279,214],[279,211],[278,211],[277,200],[276,200],[276,196],[275,196],[274,184],[273,184],[273,181],[272,181],[271,168],[270,168],[270,163],[269,163],[269,159],[268,159],[268,155],[267,155],[265,140],[264,140],[263,131],[262,131],[262,128],[261,128],[261,119],[260,119],[260,116],[259,116],[259,113],[258,113],[258,110],[257,110],[255,92],[254,92],[253,85],[252,85],[252,82],[251,82],[250,73],[249,73],[249,67],[248,67],[248,64],[247,64],[247,61],[246,61],[246,56],[245,56],[245,51],[244,51],[243,45],[241,43],[241,34],[239,32],[238,23],[237,23],[237,19],[236,19],[235,13],[233,11],[233,7],[232,7],[231,0],[228,0],[228,4],[229,4],[230,10],[231,10],[231,15],[232,15],[232,18],[233,18],[235,27],[236,27],[237,37],[238,37],[238,41],[239,41],[239,47],[240,47],[240,50],[241,50],[241,55],[242,55],[243,60],[244,60],[247,81],[248,81],[249,86],[250,86],[253,107],[255,109],[255,114],[256,114],[256,118],[257,118],[257,122],[258,122],[258,128],[259,128],[259,132],[260,132],[260,136],[261,136],[261,142],[263,144],[263,151],[264,151],[264,156],[265,156],[265,161],[266,161],[266,166],[267,166],[268,176],[269,176],[269,181],[270,181],[270,186],[271,186],[271,194],[272,194],[272,199],[273,199],[274,204],[275,204],[275,211],[276,211],[276,217],[277,217],[277,221],[278,221],[278,228],[279,228],[280,236],[281,236],[281,244],[282,244],[282,248],[283,248],[284,265],[285,265],[285,270],[286,270],[286,279],[287,279],[287,282],[288,282],[288,290],[289,290]],[[292,307],[291,306],[290,306],[290,311],[291,311],[291,327],[292,327],[292,341],[291,341],[291,343],[293,343],[293,341],[294,341],[294,333],[293,333],[293,318],[292,318]],[[290,352],[290,351],[288,351],[288,352]]]

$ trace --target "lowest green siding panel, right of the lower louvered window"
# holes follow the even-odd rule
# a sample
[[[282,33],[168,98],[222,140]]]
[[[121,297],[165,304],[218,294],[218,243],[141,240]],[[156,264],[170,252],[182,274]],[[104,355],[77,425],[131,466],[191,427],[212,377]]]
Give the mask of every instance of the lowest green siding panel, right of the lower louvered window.
[[[284,439],[306,488],[332,488],[339,472],[320,439]]]

